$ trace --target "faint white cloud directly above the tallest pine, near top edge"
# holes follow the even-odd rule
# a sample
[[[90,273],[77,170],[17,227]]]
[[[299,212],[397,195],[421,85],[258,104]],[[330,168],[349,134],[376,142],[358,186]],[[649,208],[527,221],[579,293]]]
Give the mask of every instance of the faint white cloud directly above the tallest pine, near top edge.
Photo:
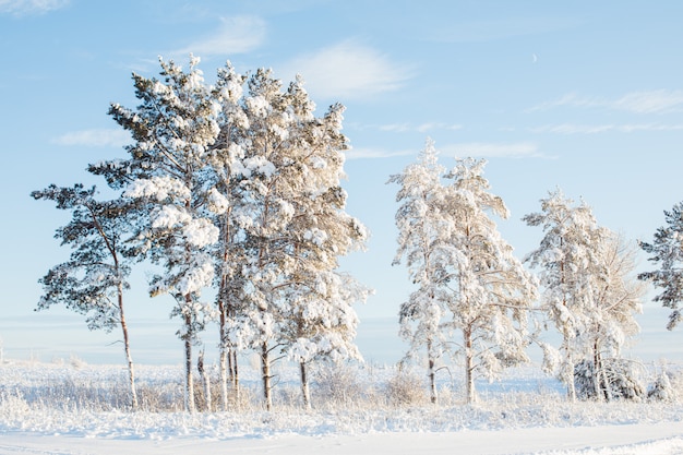
[[[261,46],[265,35],[266,24],[261,17],[248,15],[223,17],[216,31],[169,53],[175,57],[190,53],[197,57],[244,53]]]

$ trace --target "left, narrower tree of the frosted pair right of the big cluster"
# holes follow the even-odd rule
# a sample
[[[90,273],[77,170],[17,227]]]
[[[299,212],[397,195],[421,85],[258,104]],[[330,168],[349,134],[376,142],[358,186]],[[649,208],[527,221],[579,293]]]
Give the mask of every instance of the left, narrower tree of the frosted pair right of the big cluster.
[[[400,335],[409,343],[408,356],[427,350],[430,398],[438,402],[436,361],[447,349],[444,333],[445,302],[454,256],[457,251],[448,238],[452,223],[443,211],[445,190],[441,182],[446,169],[438,163],[434,143],[428,140],[418,161],[402,173],[391,176],[387,183],[400,188],[396,201],[398,249],[393,264],[405,259],[410,279],[417,289],[400,304]]]

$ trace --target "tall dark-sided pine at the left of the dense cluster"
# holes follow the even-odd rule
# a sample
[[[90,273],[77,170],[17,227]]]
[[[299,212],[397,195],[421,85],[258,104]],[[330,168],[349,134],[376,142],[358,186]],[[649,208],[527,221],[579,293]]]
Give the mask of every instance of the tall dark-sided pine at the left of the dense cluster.
[[[136,109],[113,104],[109,110],[135,140],[128,147],[130,158],[93,165],[91,170],[146,205],[136,240],[140,251],[165,270],[153,278],[151,295],[168,294],[176,300],[171,315],[182,320],[178,336],[185,352],[185,408],[194,411],[192,346],[209,311],[201,294],[212,285],[208,248],[219,235],[205,184],[220,106],[196,68],[199,59],[191,58],[188,72],[172,61],[159,61],[163,80],[133,74],[141,100]]]

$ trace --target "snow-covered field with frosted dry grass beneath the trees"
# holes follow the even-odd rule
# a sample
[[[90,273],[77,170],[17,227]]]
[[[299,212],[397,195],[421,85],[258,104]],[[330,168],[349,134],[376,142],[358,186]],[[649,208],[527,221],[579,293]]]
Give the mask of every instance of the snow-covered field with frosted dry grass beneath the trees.
[[[441,384],[439,406],[397,404],[387,392],[393,368],[349,368],[356,370],[347,375],[321,374],[327,379],[314,384],[312,411],[299,406],[297,378],[284,367],[275,410],[262,410],[259,378],[245,366],[239,409],[189,415],[180,409],[180,366],[139,367],[144,409],[129,412],[122,367],[5,361],[0,454],[683,453],[679,397],[570,404],[560,384],[528,367],[500,383],[478,383],[476,406],[463,403],[460,384],[451,380]],[[649,366],[644,380],[658,369]]]

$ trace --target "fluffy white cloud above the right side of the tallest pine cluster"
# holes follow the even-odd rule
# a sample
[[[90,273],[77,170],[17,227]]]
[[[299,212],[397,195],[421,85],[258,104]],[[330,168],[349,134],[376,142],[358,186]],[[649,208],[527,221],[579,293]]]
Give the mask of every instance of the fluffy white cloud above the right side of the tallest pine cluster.
[[[339,100],[396,91],[414,72],[409,65],[394,63],[375,49],[352,40],[300,56],[283,70],[289,76],[301,74],[307,89],[315,97]]]

